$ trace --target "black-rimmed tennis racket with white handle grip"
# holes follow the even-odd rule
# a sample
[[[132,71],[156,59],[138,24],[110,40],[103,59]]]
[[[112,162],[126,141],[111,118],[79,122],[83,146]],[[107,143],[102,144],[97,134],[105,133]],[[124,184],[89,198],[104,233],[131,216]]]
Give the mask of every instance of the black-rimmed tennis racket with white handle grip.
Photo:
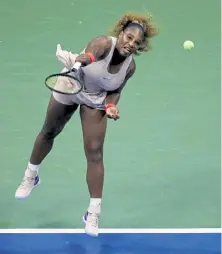
[[[50,90],[61,94],[77,94],[83,89],[80,62],[76,62],[72,70],[51,74],[45,79],[45,85]]]

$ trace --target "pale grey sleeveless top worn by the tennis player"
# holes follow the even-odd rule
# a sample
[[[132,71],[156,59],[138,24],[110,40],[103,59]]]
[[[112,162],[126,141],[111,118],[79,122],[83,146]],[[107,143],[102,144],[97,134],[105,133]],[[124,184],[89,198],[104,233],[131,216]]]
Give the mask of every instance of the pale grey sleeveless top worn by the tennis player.
[[[104,109],[107,91],[118,89],[125,80],[127,69],[132,61],[132,55],[127,57],[116,74],[108,72],[108,67],[113,56],[117,38],[111,37],[112,47],[105,59],[82,67],[83,90],[74,96],[78,104],[86,104],[97,109]],[[84,53],[85,49],[82,51]]]

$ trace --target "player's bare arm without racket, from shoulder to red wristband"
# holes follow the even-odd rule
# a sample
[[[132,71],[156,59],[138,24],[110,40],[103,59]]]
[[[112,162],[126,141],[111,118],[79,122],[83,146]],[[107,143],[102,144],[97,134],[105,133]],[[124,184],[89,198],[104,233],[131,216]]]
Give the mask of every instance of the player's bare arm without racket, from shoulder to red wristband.
[[[121,92],[122,92],[123,88],[126,86],[128,80],[130,78],[132,78],[132,76],[134,75],[135,71],[136,71],[136,64],[135,64],[135,61],[133,59],[132,62],[130,63],[130,66],[129,66],[129,69],[128,69],[128,73],[127,73],[127,75],[125,77],[125,80],[121,84],[121,86],[117,90],[110,91],[110,92],[107,93],[106,104],[117,105],[117,103],[120,100],[120,95],[121,95]]]

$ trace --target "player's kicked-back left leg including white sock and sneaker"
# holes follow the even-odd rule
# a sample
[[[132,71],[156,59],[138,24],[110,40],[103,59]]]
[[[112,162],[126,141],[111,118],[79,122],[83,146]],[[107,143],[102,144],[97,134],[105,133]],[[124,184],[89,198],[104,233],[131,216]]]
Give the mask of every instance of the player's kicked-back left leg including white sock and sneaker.
[[[77,104],[71,102],[70,105],[62,104],[51,96],[44,125],[35,140],[24,178],[15,194],[17,199],[27,198],[33,188],[40,184],[39,166],[51,151],[55,137],[62,131],[77,108]]]

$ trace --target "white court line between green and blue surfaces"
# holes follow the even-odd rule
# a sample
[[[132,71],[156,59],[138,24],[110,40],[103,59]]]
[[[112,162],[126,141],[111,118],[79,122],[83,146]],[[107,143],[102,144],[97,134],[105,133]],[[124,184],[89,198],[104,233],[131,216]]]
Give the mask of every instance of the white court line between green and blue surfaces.
[[[0,229],[0,234],[84,234],[84,229]],[[102,234],[204,234],[222,233],[222,228],[172,228],[172,229],[147,229],[147,228],[107,228],[100,229]]]

